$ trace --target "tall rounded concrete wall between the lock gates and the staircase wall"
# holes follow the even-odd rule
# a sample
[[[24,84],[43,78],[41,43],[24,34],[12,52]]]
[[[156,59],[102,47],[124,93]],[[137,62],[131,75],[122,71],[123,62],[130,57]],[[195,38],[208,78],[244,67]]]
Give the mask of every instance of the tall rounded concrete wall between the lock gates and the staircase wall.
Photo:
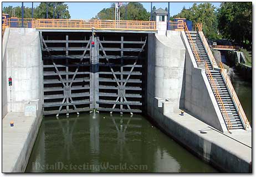
[[[149,34],[147,72],[147,110],[155,97],[168,100],[170,112],[184,105],[185,47],[180,32],[168,31],[166,35]]]

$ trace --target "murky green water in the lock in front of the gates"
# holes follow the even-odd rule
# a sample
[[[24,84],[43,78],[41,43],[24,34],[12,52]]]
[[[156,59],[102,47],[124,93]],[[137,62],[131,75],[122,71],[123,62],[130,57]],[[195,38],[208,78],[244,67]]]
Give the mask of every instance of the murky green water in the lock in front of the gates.
[[[25,172],[218,171],[145,117],[80,114],[43,118]]]

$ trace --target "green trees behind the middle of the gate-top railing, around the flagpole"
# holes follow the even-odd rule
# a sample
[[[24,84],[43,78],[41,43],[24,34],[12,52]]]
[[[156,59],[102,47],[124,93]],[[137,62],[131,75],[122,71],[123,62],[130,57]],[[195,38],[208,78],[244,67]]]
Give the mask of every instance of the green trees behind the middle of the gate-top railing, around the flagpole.
[[[120,7],[120,19],[125,20],[125,6]],[[115,19],[115,4],[110,8],[102,9],[93,19]],[[130,2],[127,4],[127,20],[149,20],[150,12],[141,3]]]

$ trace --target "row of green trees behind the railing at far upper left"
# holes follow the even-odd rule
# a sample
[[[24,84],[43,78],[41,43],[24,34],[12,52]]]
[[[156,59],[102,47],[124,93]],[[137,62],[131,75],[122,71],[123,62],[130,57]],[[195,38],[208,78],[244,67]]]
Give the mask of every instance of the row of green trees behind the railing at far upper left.
[[[55,3],[48,3],[48,18],[53,18],[53,8],[54,9],[54,17],[55,18],[70,18],[70,14],[68,11],[68,6],[63,2],[55,2]],[[42,2],[34,8],[34,18],[46,18],[46,11],[47,11],[47,3]],[[3,13],[7,13],[11,15],[11,17],[18,17],[22,18],[22,8],[21,7],[4,7]],[[58,14],[58,15],[57,15]],[[32,17],[32,8],[24,7],[24,18],[31,18]]]

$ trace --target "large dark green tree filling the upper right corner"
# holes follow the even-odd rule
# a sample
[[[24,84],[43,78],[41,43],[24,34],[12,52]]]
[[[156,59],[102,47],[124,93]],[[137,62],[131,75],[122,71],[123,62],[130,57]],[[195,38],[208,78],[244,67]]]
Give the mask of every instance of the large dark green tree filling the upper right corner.
[[[218,13],[218,28],[224,38],[252,44],[252,2],[224,2]]]

